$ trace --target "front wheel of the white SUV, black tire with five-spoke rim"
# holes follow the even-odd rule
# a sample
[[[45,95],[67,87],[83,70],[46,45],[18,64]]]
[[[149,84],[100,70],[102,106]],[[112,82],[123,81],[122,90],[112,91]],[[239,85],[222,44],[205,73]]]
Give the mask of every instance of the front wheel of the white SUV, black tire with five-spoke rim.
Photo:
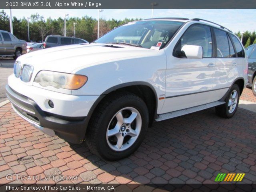
[[[148,122],[148,108],[140,97],[129,92],[106,96],[88,124],[87,146],[106,160],[125,158],[142,143]]]

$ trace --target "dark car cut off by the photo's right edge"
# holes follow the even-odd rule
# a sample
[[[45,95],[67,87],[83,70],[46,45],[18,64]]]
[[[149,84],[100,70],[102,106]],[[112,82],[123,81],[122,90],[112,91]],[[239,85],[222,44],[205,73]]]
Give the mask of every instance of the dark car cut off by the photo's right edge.
[[[245,52],[248,56],[248,86],[256,96],[256,44],[248,46]]]

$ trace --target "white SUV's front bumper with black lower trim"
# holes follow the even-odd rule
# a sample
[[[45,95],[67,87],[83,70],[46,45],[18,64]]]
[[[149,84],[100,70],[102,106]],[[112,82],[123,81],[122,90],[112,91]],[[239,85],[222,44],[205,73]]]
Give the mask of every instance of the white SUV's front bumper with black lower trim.
[[[86,116],[68,117],[43,111],[31,98],[6,85],[7,97],[14,110],[25,120],[48,135],[58,135],[71,143],[81,143],[86,132]]]

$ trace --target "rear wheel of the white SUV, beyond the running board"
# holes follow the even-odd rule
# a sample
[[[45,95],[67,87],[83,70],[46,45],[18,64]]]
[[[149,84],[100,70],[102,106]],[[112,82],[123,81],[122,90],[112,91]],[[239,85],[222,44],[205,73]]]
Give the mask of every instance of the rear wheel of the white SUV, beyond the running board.
[[[240,98],[240,89],[237,84],[234,84],[228,92],[225,99],[225,104],[215,108],[216,114],[220,117],[231,118],[236,113]]]

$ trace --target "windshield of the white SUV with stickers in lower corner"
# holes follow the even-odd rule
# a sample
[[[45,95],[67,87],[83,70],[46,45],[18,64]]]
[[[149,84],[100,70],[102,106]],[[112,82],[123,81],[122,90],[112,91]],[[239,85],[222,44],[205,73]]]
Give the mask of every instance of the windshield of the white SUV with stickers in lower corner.
[[[130,44],[148,49],[152,46],[163,48],[183,23],[163,20],[130,22],[108,32],[94,43]]]

